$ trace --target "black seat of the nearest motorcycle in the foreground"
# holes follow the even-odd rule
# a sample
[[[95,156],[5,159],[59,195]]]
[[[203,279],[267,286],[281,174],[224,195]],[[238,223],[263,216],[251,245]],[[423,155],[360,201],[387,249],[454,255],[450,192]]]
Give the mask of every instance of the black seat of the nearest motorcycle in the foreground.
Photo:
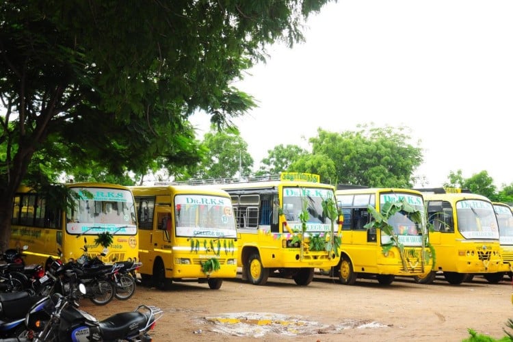
[[[127,313],[116,313],[107,319],[99,322],[104,340],[122,339],[145,328],[148,317],[144,313],[131,311]]]

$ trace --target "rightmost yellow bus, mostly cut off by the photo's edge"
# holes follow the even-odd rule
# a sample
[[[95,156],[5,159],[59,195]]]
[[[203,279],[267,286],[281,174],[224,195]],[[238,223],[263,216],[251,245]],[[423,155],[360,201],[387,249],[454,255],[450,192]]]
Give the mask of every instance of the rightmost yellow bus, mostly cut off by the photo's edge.
[[[499,224],[499,243],[501,245],[501,258],[504,264],[504,274],[512,278],[513,267],[513,211],[505,203],[492,202],[497,222]],[[497,280],[502,280],[500,273],[497,274]]]

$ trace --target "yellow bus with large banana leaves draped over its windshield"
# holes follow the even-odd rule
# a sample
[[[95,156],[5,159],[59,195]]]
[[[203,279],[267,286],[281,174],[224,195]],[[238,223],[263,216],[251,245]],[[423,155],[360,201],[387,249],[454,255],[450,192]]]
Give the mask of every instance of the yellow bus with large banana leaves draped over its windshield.
[[[340,261],[330,269],[329,276],[338,277],[343,285],[354,285],[357,278],[376,279],[382,285],[390,285],[395,276],[422,276],[430,273],[430,250],[425,246],[422,233],[422,229],[426,229],[425,225],[415,223],[404,211],[398,211],[388,219],[397,241],[404,246],[404,259],[390,235],[380,228],[365,227],[373,220],[369,206],[381,212],[387,202],[401,202],[404,199],[424,215],[423,196],[420,192],[411,189],[358,187],[338,189],[335,194],[344,215],[343,239]],[[385,247],[391,244],[392,248]]]

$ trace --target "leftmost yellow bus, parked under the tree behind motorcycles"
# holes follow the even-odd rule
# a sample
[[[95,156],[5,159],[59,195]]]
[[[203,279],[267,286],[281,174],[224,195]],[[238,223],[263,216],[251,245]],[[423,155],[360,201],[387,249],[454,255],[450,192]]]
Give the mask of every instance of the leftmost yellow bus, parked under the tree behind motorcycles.
[[[14,196],[10,248],[28,246],[26,263],[47,263],[49,257],[77,259],[84,246],[90,257],[106,263],[137,261],[139,240],[133,196],[127,187],[107,183],[65,184],[73,204],[59,208],[54,194],[43,194],[22,186]],[[59,192],[60,196],[66,196]],[[111,246],[96,246],[98,234],[109,232]],[[103,256],[102,254],[105,254]]]

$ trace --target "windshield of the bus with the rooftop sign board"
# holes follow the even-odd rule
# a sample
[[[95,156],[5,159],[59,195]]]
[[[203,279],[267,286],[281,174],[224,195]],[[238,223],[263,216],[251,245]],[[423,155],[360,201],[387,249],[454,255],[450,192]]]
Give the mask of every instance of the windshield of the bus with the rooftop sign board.
[[[306,231],[330,231],[331,220],[323,213],[322,202],[328,198],[334,200],[332,189],[317,187],[284,187],[283,213],[293,231],[301,231],[300,214],[303,209],[308,211]]]

